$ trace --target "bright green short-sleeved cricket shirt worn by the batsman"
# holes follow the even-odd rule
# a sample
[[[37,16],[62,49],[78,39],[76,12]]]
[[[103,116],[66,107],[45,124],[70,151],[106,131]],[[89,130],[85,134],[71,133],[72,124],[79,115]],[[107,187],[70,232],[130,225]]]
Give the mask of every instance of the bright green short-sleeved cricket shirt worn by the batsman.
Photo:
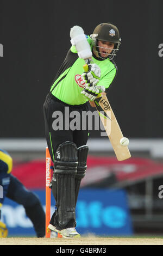
[[[110,62],[109,59],[97,60],[93,57],[92,59],[93,62],[96,63],[99,66],[99,68],[101,68],[101,79],[99,80],[97,85],[108,88],[116,75],[115,65],[112,62]],[[84,88],[84,81],[81,77],[81,75],[84,72],[84,64],[85,62],[83,59],[77,58],[73,65],[64,72],[66,76],[64,77],[63,74],[61,74],[58,77],[58,79],[54,82],[53,86],[51,87],[51,92],[55,97],[69,105],[82,105],[88,101],[81,94]],[[64,78],[61,79],[62,77]]]

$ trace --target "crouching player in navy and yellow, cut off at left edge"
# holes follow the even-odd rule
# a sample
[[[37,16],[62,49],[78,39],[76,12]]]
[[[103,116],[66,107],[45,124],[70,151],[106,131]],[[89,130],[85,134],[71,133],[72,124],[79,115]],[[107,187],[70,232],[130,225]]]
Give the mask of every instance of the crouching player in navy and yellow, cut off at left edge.
[[[0,149],[0,186],[3,187],[3,193],[0,197],[0,237],[8,236],[8,228],[1,221],[1,209],[5,197],[22,204],[26,215],[34,225],[37,237],[45,236],[45,212],[43,211],[39,198],[31,191],[27,190],[23,184],[11,174],[12,158]]]

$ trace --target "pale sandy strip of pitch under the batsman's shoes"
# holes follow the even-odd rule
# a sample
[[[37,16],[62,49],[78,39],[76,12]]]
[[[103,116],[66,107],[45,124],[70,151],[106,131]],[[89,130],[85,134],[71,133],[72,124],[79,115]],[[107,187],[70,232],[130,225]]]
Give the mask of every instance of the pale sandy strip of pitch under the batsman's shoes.
[[[163,245],[163,238],[86,236],[77,239],[64,239],[7,237],[0,238],[0,245]]]

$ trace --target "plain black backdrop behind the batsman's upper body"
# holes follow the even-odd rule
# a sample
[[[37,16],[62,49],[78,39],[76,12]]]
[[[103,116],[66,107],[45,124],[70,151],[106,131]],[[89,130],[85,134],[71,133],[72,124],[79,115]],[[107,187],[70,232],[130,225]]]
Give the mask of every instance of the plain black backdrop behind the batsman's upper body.
[[[120,30],[118,75],[108,91],[128,137],[163,135],[162,1],[0,1],[1,137],[44,137],[42,104],[70,43],[70,28],[86,34],[101,22]],[[92,132],[92,137],[98,132]]]

